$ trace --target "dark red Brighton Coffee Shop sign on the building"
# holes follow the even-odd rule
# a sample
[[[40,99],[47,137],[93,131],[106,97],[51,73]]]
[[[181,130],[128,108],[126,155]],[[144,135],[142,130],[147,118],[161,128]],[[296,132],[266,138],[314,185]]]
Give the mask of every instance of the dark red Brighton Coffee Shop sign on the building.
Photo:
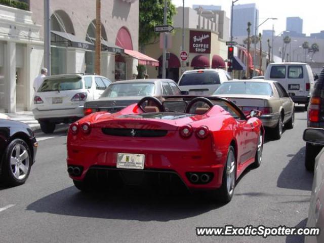
[[[190,53],[211,53],[211,32],[190,30]]]

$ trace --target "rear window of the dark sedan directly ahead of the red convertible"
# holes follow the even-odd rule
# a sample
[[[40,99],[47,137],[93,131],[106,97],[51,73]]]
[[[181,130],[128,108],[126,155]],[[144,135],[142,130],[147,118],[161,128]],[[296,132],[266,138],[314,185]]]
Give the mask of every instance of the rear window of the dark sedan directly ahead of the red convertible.
[[[153,96],[155,85],[153,83],[124,83],[111,84],[100,98],[125,96]]]

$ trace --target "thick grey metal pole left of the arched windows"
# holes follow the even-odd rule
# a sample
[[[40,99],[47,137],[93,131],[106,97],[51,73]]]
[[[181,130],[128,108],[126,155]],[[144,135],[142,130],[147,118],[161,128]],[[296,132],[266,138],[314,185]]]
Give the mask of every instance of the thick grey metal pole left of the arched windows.
[[[44,64],[51,75],[51,18],[50,0],[44,0]]]

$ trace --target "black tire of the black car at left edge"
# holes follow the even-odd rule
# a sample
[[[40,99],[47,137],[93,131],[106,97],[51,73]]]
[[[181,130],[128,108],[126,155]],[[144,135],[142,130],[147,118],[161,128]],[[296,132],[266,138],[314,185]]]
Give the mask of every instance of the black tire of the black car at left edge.
[[[17,161],[17,160],[14,160],[16,161],[15,165],[12,165],[11,164],[11,161],[12,161],[12,155],[13,153],[15,153],[15,157],[18,157],[19,154],[22,155],[22,153],[19,153],[17,155],[17,150],[16,149],[16,146],[19,146],[19,151],[23,148],[28,157],[25,158],[24,160],[21,160],[21,161]],[[13,157],[13,158],[15,158]],[[27,165],[27,159],[28,159],[28,165]],[[15,173],[13,172],[13,169],[17,170],[17,166],[18,164],[23,164],[25,167],[24,170],[26,170],[24,172],[24,177],[19,179],[19,178],[16,178],[15,177]],[[9,145],[7,146],[7,148],[5,149],[5,152],[4,152],[4,155],[2,157],[2,180],[5,182],[5,184],[9,185],[9,186],[19,186],[19,185],[22,185],[26,182],[27,178],[29,177],[29,173],[30,173],[30,169],[31,169],[31,164],[32,164],[32,156],[31,156],[31,152],[30,152],[30,149],[27,145],[27,143],[20,139],[20,138],[16,138],[14,140],[12,140]],[[18,169],[18,174],[22,174],[23,171]]]

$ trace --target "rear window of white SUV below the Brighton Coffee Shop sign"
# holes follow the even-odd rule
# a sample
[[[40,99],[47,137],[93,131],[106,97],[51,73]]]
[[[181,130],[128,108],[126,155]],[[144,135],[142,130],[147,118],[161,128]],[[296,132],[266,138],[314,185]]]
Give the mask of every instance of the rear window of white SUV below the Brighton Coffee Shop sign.
[[[183,74],[179,86],[186,85],[220,85],[217,72],[195,72]]]

